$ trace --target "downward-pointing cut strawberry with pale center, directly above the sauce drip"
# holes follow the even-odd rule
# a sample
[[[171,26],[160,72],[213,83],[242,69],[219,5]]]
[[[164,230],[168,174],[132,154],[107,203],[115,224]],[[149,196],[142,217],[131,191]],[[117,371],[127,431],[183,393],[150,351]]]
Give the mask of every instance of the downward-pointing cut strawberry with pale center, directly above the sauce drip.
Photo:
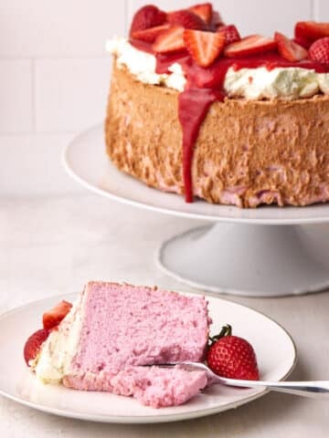
[[[202,30],[185,30],[184,42],[196,64],[208,67],[223,51],[225,36]]]

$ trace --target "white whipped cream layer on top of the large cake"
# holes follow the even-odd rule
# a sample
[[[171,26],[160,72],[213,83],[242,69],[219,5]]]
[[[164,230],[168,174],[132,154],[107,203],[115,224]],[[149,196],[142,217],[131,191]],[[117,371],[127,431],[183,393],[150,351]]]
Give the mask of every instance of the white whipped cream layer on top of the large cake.
[[[106,49],[117,57],[117,66],[122,66],[145,84],[162,85],[183,91],[186,77],[177,63],[168,68],[171,74],[155,72],[154,55],[133,47],[127,39],[115,37],[106,44]],[[302,99],[311,98],[319,92],[329,94],[329,73],[316,73],[307,68],[228,68],[224,89],[230,98]]]

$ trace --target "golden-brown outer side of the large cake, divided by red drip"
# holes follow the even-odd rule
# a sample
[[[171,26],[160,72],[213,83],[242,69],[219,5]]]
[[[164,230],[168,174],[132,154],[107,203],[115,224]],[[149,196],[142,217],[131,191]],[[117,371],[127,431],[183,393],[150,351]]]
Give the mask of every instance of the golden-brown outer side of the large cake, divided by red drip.
[[[113,68],[105,134],[122,172],[164,192],[185,193],[178,92]],[[329,96],[226,99],[211,105],[194,151],[194,194],[256,207],[329,201]]]

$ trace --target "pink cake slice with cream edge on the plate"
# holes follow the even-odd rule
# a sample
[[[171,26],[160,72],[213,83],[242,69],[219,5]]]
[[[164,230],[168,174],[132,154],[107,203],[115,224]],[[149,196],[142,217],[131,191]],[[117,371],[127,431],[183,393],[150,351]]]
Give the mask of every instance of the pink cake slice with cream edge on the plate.
[[[207,385],[206,374],[156,364],[204,360],[209,324],[205,297],[90,282],[28,364],[44,382],[178,405]]]

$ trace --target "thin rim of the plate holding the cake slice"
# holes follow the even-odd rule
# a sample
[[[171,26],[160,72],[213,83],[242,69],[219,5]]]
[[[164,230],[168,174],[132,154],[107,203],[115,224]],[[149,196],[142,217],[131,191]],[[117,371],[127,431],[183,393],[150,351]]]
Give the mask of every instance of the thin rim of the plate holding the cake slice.
[[[263,318],[269,319],[272,323],[274,323],[278,328],[281,328],[282,332],[285,334],[287,339],[290,340],[292,344],[292,353],[293,353],[293,360],[292,360],[292,366],[290,370],[286,372],[284,376],[281,377],[280,381],[285,381],[291,374],[292,371],[295,369],[297,361],[298,361],[298,352],[296,348],[296,344],[294,340],[292,339],[292,336],[287,331],[286,328],[281,326],[279,322],[277,322],[275,319],[269,317],[268,315],[264,314],[263,312],[260,312],[259,310],[256,310],[255,308],[251,308],[249,306],[245,306],[243,304],[236,303],[235,301],[231,301],[227,298],[223,297],[214,297],[207,293],[195,293],[195,292],[186,292],[186,291],[179,291],[175,290],[179,294],[183,295],[189,295],[189,296],[204,296],[210,299],[218,300],[218,301],[224,301],[229,303],[230,305],[233,305],[234,307],[239,308],[245,308],[248,309],[251,312],[255,312],[262,316]],[[22,306],[18,306],[16,308],[11,308],[4,313],[0,314],[0,322],[2,322],[5,318],[12,316],[16,312],[22,311],[25,308],[29,308],[38,304],[42,304],[43,302],[47,302],[50,300],[60,299],[60,298],[69,298],[69,297],[76,297],[79,295],[79,292],[71,292],[66,294],[60,294],[60,295],[53,295],[46,298],[40,298],[37,300],[31,300],[27,303],[23,304]],[[65,418],[72,418],[77,419],[81,421],[88,421],[88,422],[106,422],[106,423],[117,423],[117,424],[151,424],[151,423],[164,423],[164,422],[180,422],[180,421],[187,421],[187,420],[193,420],[197,418],[206,417],[209,415],[214,415],[216,413],[220,412],[226,412],[230,411],[231,409],[236,409],[239,406],[242,406],[244,404],[249,403],[250,401],[254,401],[262,397],[263,395],[266,395],[270,390],[264,388],[263,390],[258,391],[256,394],[252,394],[249,397],[240,400],[240,401],[234,401],[230,402],[224,406],[218,406],[213,407],[209,409],[200,409],[197,411],[192,412],[180,412],[180,413],[169,413],[169,414],[161,414],[161,415],[105,415],[105,414],[90,414],[85,412],[67,412],[58,408],[50,408],[48,406],[45,406],[43,404],[37,403],[35,401],[27,401],[22,398],[19,398],[15,395],[12,395],[10,393],[7,393],[6,391],[3,391],[0,388],[0,396],[5,397],[5,399],[15,401],[21,405],[27,406],[29,408],[35,409],[39,412],[46,412],[53,415],[57,415],[59,417],[65,417]]]

